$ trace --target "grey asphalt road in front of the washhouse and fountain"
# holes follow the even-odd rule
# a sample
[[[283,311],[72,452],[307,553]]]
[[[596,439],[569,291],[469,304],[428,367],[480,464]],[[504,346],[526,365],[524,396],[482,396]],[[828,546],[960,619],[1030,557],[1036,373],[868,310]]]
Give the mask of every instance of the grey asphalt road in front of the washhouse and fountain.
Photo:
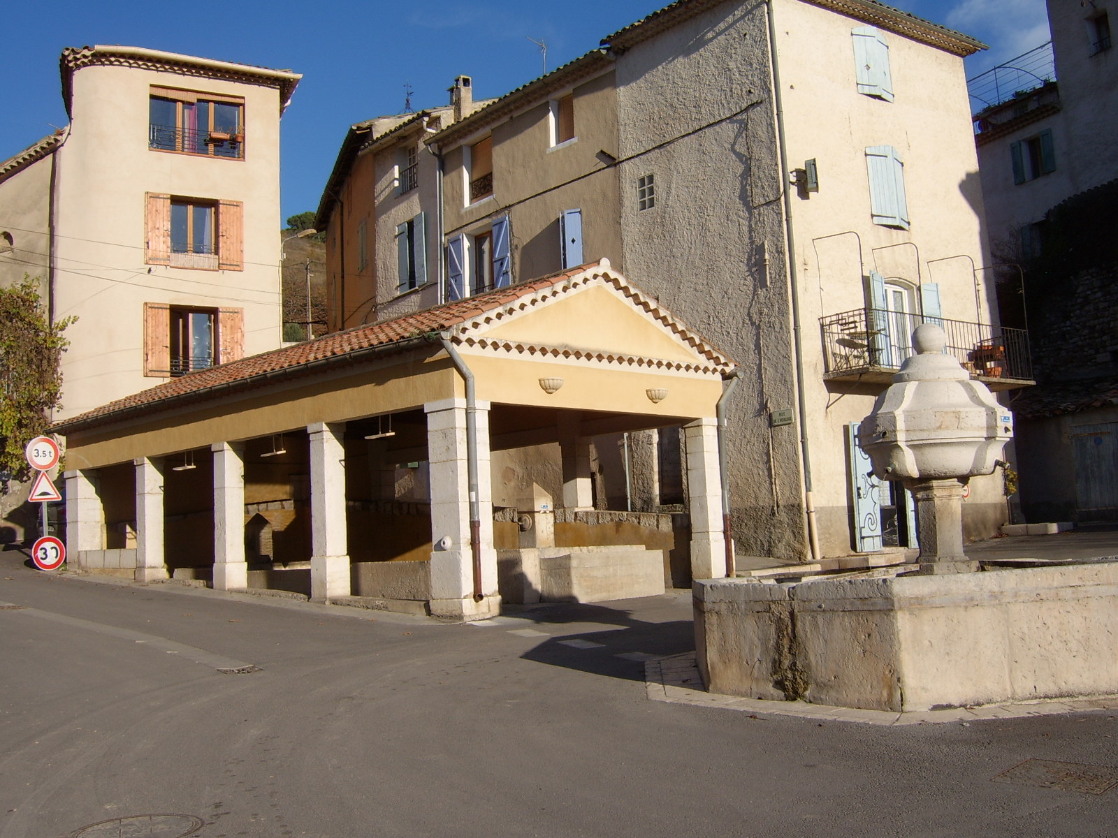
[[[693,648],[686,593],[446,626],[6,552],[0,600],[0,838],[150,813],[203,838],[1118,835],[1118,789],[992,782],[1118,765],[1114,713],[884,727],[650,701],[633,658]],[[85,835],[180,834],[126,822]]]

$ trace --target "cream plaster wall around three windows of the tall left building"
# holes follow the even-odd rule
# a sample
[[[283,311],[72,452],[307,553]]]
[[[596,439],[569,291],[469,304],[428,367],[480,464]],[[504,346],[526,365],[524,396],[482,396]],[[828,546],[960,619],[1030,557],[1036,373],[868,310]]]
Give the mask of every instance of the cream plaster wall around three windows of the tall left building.
[[[151,85],[245,98],[245,160],[148,147]],[[245,353],[281,344],[280,94],[274,87],[129,67],[74,73],[60,152],[55,314],[79,315],[64,355],[65,418],[154,387],[143,375],[143,304],[239,307]],[[244,202],[244,265],[188,270],[144,263],[144,193]]]

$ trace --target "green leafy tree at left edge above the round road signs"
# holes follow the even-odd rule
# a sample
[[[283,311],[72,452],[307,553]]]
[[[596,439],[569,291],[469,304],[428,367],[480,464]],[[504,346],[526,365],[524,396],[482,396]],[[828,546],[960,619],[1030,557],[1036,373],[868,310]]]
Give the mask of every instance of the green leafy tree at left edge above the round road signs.
[[[26,480],[28,441],[47,427],[48,411],[60,403],[63,331],[77,317],[49,323],[39,299],[39,280],[0,288],[0,469]]]

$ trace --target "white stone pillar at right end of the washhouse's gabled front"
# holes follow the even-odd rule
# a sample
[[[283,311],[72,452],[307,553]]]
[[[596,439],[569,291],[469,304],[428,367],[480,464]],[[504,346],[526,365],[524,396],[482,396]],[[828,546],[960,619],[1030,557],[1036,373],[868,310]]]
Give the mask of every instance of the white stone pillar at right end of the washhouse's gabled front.
[[[691,513],[691,578],[726,575],[722,485],[718,466],[718,421],[700,419],[684,428]]]

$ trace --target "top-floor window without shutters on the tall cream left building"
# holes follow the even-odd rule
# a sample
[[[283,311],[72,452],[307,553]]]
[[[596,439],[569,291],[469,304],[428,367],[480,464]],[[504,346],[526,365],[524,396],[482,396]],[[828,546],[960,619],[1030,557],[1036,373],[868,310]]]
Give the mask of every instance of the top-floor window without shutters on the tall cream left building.
[[[152,87],[148,144],[217,158],[244,158],[245,101],[237,96]]]

